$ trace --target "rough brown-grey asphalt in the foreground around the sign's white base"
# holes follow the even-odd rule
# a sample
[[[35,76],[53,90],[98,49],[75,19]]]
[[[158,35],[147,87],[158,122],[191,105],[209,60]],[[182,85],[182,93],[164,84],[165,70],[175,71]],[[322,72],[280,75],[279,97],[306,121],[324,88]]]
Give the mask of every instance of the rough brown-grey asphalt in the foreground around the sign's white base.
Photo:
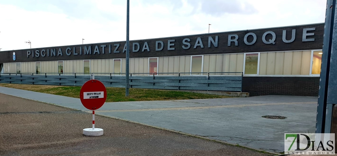
[[[84,136],[92,114],[53,104],[0,94],[2,156],[268,156],[142,124],[95,116],[102,136]]]

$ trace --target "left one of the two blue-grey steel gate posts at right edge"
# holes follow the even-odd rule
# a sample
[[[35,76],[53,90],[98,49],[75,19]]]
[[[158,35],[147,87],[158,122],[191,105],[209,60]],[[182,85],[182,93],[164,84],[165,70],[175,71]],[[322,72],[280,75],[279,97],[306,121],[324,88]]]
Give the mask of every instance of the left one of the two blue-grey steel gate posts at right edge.
[[[330,129],[325,129],[325,127],[335,9],[336,0],[327,0],[315,133],[325,133],[330,131]],[[327,124],[331,125],[331,122]]]

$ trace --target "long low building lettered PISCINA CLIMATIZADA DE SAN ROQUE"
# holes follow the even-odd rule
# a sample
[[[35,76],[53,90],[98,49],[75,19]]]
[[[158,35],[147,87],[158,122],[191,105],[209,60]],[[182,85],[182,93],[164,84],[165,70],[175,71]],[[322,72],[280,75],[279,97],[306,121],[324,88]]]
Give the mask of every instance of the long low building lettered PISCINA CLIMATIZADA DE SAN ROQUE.
[[[132,75],[242,75],[256,95],[317,96],[324,23],[131,40]],[[125,75],[125,41],[0,52],[3,73]],[[211,73],[208,73],[211,72]]]

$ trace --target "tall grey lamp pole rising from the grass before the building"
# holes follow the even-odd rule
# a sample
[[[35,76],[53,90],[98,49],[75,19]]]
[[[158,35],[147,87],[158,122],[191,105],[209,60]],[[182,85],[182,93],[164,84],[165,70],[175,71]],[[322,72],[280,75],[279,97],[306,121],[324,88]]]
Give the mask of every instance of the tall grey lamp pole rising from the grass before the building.
[[[129,10],[130,10],[130,0],[126,3],[126,71],[125,71],[125,96],[129,96]]]

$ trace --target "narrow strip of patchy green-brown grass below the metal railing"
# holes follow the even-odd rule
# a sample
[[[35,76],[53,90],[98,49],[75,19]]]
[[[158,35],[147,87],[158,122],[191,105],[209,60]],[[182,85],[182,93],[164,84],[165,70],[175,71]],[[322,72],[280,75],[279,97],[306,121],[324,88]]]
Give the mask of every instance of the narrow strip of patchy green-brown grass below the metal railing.
[[[20,85],[20,84],[0,84],[0,86],[29,90],[40,93],[62,95],[74,98],[80,98],[80,91],[81,91],[81,87],[71,87],[71,86]],[[183,91],[167,91],[167,90],[138,89],[138,88],[130,88],[129,97],[125,97],[125,88],[106,87],[106,91],[108,92],[106,102],[207,99],[207,98],[229,97],[222,95],[190,93]]]

